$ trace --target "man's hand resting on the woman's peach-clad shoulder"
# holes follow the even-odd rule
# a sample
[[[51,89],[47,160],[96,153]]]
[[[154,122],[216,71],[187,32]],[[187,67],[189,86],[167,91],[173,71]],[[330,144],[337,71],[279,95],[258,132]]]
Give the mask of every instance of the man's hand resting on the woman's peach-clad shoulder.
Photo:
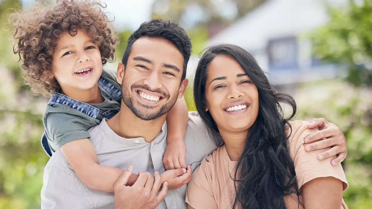
[[[346,138],[342,131],[333,123],[324,118],[315,118],[307,125],[308,128],[317,127],[320,131],[311,134],[305,138],[306,151],[314,151],[331,147],[325,152],[318,155],[319,160],[328,157],[337,157],[331,161],[332,165],[337,165],[343,161],[347,155]]]

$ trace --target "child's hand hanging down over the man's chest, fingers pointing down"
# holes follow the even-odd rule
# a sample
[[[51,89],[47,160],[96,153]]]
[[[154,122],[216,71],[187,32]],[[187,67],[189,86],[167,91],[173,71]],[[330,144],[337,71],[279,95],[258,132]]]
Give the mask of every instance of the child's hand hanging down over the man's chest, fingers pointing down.
[[[167,149],[164,153],[164,167],[166,170],[174,170],[178,168],[186,168],[186,145],[183,140],[172,140],[167,144]],[[168,182],[169,183],[169,182]]]

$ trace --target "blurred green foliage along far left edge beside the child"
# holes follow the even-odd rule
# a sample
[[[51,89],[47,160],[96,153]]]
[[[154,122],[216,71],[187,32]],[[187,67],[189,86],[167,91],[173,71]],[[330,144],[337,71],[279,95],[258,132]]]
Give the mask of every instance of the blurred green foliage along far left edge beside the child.
[[[44,100],[22,85],[18,57],[12,53],[8,15],[18,0],[0,1],[0,208],[40,208],[42,175],[48,156],[40,145]]]

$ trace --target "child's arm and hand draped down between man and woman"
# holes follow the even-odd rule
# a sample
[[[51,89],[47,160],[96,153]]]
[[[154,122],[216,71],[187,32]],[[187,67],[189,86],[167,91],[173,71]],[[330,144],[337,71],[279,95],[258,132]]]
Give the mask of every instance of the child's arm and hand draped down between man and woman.
[[[166,170],[186,168],[185,133],[189,114],[185,98],[177,99],[176,104],[167,115],[168,134],[167,149],[164,153],[164,167]]]

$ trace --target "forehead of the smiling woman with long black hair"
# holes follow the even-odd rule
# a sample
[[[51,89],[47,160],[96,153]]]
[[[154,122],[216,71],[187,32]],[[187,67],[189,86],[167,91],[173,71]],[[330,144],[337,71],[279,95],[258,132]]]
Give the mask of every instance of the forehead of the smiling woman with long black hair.
[[[236,78],[237,74],[246,73],[240,64],[230,55],[217,55],[208,65],[208,80],[216,77]]]

